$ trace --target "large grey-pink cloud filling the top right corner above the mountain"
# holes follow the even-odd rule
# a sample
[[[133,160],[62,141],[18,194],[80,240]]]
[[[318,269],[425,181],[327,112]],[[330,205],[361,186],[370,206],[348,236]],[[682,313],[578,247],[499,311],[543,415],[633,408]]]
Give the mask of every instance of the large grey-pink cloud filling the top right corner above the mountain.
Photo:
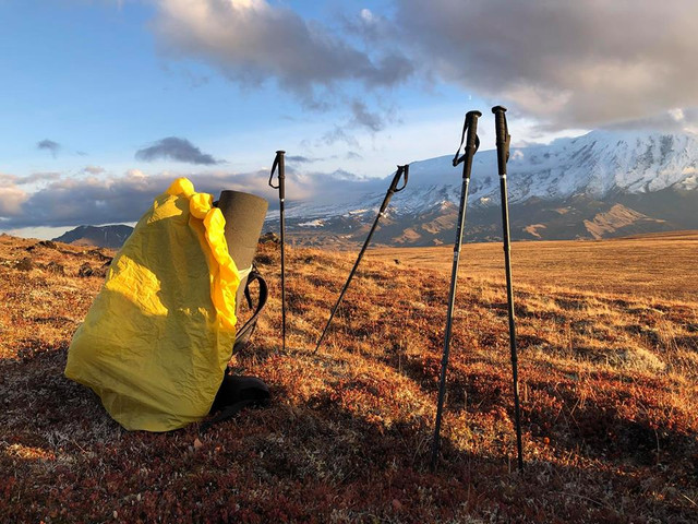
[[[550,129],[621,124],[698,106],[694,0],[395,5],[394,33],[413,45],[416,62]]]

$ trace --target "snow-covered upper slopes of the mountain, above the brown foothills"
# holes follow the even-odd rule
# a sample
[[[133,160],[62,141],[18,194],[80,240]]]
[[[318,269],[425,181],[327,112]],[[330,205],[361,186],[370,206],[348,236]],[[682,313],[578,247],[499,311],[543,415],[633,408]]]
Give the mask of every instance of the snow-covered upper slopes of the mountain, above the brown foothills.
[[[411,163],[408,187],[393,200],[397,211],[419,213],[444,202],[457,204],[461,167],[454,168],[452,159],[441,156]],[[565,199],[580,193],[594,198],[604,198],[613,191],[646,193],[676,184],[690,190],[698,187],[698,135],[592,131],[574,139],[557,139],[549,145],[513,147],[507,170],[510,203],[531,198]],[[380,183],[374,180],[352,183],[357,191],[352,192],[356,198],[351,202],[320,205],[306,202],[296,206],[289,216],[318,217],[376,207],[388,178]],[[480,151],[473,159],[469,204],[498,205],[498,200],[496,151]]]

